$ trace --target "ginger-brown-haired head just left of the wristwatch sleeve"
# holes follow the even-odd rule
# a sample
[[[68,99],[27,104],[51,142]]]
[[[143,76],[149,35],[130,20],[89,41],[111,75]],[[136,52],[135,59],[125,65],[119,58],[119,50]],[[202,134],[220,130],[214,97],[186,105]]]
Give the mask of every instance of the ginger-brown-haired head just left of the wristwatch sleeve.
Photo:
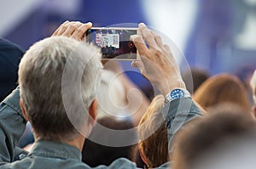
[[[156,96],[137,127],[138,149],[148,168],[158,167],[170,161],[166,125],[160,114],[164,103],[163,96]]]

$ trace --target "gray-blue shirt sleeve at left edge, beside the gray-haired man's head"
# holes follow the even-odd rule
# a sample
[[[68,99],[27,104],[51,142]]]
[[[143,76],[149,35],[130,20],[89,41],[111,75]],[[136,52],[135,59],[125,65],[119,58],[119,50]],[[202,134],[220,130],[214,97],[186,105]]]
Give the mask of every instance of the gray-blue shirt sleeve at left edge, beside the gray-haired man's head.
[[[17,87],[0,104],[0,163],[14,161],[15,146],[26,128],[20,110],[20,89]]]

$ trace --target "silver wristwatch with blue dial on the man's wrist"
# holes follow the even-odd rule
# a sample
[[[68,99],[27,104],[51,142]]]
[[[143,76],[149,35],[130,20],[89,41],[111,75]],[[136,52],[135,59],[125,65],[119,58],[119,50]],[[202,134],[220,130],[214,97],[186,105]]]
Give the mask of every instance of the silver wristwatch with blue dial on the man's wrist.
[[[174,88],[170,93],[166,94],[165,104],[181,98],[191,98],[189,91],[184,88]]]

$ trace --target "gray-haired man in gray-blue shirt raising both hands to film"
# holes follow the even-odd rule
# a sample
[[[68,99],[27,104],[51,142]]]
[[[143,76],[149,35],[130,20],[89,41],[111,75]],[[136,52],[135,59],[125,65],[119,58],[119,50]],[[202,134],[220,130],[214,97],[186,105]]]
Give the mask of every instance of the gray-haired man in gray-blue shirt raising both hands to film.
[[[80,151],[95,125],[102,67],[99,51],[81,41],[90,27],[91,23],[67,21],[54,37],[26,51],[20,61],[20,87],[0,104],[0,168],[90,168],[81,161]],[[162,114],[170,143],[177,129],[201,111],[185,89],[170,48],[146,25],[139,25],[139,30],[142,37],[131,40],[142,60],[133,65],[166,95]],[[14,148],[26,121],[32,124],[36,142],[29,155],[13,162]],[[96,168],[136,167],[121,158],[110,166]]]

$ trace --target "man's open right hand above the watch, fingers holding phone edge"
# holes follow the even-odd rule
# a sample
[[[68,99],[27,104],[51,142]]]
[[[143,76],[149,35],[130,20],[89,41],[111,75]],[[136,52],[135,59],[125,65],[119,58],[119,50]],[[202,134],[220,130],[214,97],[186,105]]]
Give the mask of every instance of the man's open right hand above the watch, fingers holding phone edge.
[[[133,61],[132,66],[137,67],[163,95],[176,87],[186,88],[171,49],[146,25],[140,24],[139,31],[142,37],[132,36],[131,40],[137,47],[141,60]]]

